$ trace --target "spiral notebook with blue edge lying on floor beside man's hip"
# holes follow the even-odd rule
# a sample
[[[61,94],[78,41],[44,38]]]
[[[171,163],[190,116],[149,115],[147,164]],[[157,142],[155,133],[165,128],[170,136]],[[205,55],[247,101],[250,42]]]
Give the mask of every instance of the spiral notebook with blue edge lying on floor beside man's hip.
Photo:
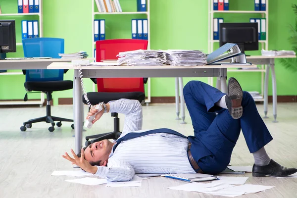
[[[204,181],[211,181],[211,180],[219,180],[218,178],[214,177],[213,175],[207,174],[163,174],[162,177],[167,177],[171,179],[177,179],[185,182],[204,182]]]

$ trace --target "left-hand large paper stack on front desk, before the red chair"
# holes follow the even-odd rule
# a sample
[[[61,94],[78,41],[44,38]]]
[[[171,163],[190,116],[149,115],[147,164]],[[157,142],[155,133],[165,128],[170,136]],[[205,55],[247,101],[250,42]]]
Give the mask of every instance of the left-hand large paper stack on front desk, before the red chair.
[[[118,64],[130,65],[162,65],[166,63],[164,53],[162,50],[133,50],[120,52],[117,55]]]

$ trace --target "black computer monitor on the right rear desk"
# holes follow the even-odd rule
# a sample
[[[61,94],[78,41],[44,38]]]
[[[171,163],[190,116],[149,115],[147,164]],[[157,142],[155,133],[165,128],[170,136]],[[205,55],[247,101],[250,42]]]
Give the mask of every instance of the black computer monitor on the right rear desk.
[[[220,23],[219,40],[220,46],[237,44],[242,53],[245,50],[258,50],[258,23]]]

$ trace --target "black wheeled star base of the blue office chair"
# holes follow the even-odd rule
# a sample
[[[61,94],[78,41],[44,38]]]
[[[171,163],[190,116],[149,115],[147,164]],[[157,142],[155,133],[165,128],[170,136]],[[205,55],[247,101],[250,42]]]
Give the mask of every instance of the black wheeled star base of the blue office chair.
[[[21,127],[21,131],[26,131],[27,128],[31,128],[33,123],[37,123],[37,122],[46,122],[46,123],[51,123],[51,127],[49,127],[49,131],[53,132],[54,131],[54,121],[59,121],[56,123],[56,125],[58,127],[62,126],[62,121],[63,122],[73,122],[73,120],[71,119],[66,119],[66,118],[61,118],[61,117],[55,117],[55,116],[44,116],[44,117],[39,117],[39,118],[35,118],[35,119],[31,119],[27,122],[23,123],[23,126]]]

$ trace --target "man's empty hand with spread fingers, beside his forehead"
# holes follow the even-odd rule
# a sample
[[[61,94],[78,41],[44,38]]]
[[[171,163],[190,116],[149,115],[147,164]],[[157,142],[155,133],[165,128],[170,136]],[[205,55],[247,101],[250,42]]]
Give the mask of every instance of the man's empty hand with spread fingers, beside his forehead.
[[[81,157],[78,157],[73,149],[71,149],[72,155],[74,158],[70,157],[67,152],[65,152],[65,155],[62,155],[65,159],[72,162],[72,164],[75,164],[79,166],[81,169],[85,170],[86,172],[95,174],[98,170],[96,166],[92,166],[87,160],[85,160],[85,153],[84,149],[82,148],[82,154]]]

